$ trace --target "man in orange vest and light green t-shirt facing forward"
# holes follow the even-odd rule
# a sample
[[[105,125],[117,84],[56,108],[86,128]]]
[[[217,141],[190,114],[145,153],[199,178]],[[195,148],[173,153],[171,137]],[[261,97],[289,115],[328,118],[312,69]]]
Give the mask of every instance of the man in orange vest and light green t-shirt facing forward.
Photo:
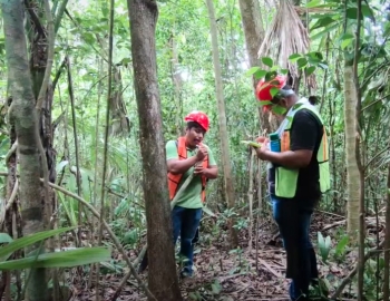
[[[208,117],[202,111],[192,111],[184,120],[187,123],[185,135],[166,144],[170,201],[186,178],[195,174],[172,211],[174,243],[176,244],[181,236],[181,255],[185,258],[181,271],[182,279],[193,276],[193,239],[201,223],[206,184],[209,178],[216,178],[218,175],[213,153],[203,144],[208,130]]]

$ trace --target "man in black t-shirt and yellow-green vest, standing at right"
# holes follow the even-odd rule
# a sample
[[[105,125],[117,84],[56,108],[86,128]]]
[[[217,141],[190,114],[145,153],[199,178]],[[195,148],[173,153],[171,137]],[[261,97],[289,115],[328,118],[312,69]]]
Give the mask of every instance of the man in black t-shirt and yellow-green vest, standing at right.
[[[311,216],[322,193],[330,190],[328,138],[324,123],[313,106],[314,98],[299,99],[276,76],[257,84],[256,97],[264,110],[282,123],[270,142],[259,137],[257,157],[267,162],[267,182],[273,216],[286,250],[286,278],[292,300],[310,300],[310,285],[319,284],[316,256],[310,241]],[[270,146],[272,149],[270,149]]]

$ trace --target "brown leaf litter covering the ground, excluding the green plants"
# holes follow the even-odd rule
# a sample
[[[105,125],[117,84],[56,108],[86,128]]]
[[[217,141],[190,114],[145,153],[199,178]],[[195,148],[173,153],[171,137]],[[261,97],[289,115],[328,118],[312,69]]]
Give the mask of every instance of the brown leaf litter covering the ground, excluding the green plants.
[[[342,216],[316,212],[311,226],[313,244],[318,245],[318,232],[321,232],[324,237],[328,235],[331,237],[331,249],[334,253],[341,240],[340,233],[345,232],[344,226]],[[378,227],[371,222],[368,223],[368,227],[373,241],[378,239],[377,233],[380,236],[383,235],[381,225]],[[275,226],[272,221],[263,222],[260,227],[257,260],[254,243],[252,250],[247,247],[247,231],[240,232],[241,249],[235,251],[230,251],[227,247],[226,231],[221,231],[221,235],[216,237],[203,232],[201,235],[204,237],[195,247],[195,276],[181,283],[185,300],[290,300],[287,295],[290,280],[284,276],[285,252],[277,233],[275,235]],[[348,251],[340,259],[332,256],[331,251],[329,260],[323,263],[319,247],[316,247],[316,253],[320,276],[325,280],[332,293],[355,265],[358,254],[355,251]],[[136,254],[133,254],[131,258],[135,259]],[[116,273],[109,271],[103,275],[101,285],[104,285],[105,300],[111,300],[123,276],[124,272],[120,271]],[[140,276],[146,282],[147,270]],[[85,284],[75,282],[70,300],[96,300],[95,290],[86,289]],[[343,295],[345,299],[341,300],[354,300],[355,287],[355,283],[348,285]],[[130,278],[117,300],[146,300],[146,298],[138,289],[136,281]]]

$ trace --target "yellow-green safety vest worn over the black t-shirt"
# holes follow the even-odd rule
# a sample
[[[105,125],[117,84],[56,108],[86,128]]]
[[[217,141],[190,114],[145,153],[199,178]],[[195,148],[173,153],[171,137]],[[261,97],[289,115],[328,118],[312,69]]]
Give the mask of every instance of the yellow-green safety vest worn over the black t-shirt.
[[[323,125],[322,118],[319,113],[312,106],[302,105],[293,111],[293,115],[289,116],[289,124],[285,127],[284,132],[281,135],[281,152],[287,152],[291,148],[291,135],[290,129],[292,126],[292,122],[296,111],[301,109],[308,109],[313,113],[322,124],[322,139],[320,143],[320,147],[316,153],[316,161],[319,164],[319,173],[320,173],[320,190],[321,193],[325,193],[331,188],[330,183],[330,169],[329,169],[329,144],[328,144],[328,135],[325,126]],[[283,166],[279,166],[275,168],[275,194],[280,197],[294,197],[296,193],[298,177],[299,177],[299,168],[286,168]]]

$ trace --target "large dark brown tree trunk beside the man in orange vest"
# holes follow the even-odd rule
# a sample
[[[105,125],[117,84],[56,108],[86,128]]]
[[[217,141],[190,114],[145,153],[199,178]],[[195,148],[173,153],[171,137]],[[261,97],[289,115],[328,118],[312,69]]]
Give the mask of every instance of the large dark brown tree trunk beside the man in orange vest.
[[[147,219],[148,287],[157,300],[179,301],[173,227],[167,191],[167,166],[157,85],[154,0],[128,0],[134,85],[139,116]]]

